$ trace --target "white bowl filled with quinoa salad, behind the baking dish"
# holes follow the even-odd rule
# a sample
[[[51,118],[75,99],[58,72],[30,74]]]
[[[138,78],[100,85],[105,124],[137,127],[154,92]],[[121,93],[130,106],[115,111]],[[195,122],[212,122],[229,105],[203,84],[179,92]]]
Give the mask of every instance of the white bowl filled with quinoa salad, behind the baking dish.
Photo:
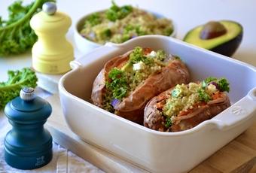
[[[175,37],[175,25],[163,15],[112,2],[110,8],[82,17],[75,27],[75,42],[84,53],[107,42],[121,44],[142,35]]]

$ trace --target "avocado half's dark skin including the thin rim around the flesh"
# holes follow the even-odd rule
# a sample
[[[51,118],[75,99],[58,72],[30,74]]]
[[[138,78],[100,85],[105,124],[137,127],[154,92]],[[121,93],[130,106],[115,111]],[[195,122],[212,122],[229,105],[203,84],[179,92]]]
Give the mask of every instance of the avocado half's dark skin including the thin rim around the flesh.
[[[232,20],[223,20],[223,21],[236,23],[235,21],[232,21]],[[239,23],[236,23],[236,24],[242,29],[241,32],[239,33],[239,35],[237,35],[235,38],[231,39],[230,41],[225,41],[223,44],[219,44],[218,46],[213,47],[212,49],[209,49],[209,50],[211,50],[215,53],[220,53],[224,56],[232,56],[233,53],[236,52],[237,48],[241,44],[242,35],[243,35],[242,26]],[[194,29],[197,29],[197,27],[195,27]],[[189,32],[187,32],[187,34],[184,36],[183,41],[186,42],[187,36],[190,35],[194,31],[194,29],[191,29]]]

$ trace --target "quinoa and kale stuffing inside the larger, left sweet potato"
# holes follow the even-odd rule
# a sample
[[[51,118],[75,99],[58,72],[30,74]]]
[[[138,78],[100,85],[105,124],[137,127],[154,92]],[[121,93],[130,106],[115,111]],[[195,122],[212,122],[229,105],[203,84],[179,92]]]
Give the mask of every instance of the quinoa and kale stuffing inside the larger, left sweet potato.
[[[106,92],[103,108],[114,111],[111,102],[121,101],[129,96],[130,92],[142,85],[151,75],[160,71],[170,60],[170,56],[163,50],[144,50],[142,47],[134,48],[129,60],[120,68],[111,68],[106,81]]]

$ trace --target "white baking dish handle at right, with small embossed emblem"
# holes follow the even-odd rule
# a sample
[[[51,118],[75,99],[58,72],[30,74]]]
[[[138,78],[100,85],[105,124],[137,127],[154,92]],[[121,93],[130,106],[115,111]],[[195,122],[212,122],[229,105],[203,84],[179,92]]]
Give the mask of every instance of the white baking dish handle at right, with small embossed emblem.
[[[214,117],[218,127],[226,130],[251,117],[256,117],[256,87],[248,92],[239,102]]]

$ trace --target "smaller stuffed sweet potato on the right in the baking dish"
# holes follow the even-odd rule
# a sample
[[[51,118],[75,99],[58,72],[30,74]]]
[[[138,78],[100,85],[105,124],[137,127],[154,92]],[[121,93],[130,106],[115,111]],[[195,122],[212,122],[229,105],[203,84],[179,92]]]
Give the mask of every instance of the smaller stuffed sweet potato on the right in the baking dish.
[[[145,106],[144,126],[161,132],[191,129],[230,107],[229,90],[226,79],[215,77],[172,87]]]

